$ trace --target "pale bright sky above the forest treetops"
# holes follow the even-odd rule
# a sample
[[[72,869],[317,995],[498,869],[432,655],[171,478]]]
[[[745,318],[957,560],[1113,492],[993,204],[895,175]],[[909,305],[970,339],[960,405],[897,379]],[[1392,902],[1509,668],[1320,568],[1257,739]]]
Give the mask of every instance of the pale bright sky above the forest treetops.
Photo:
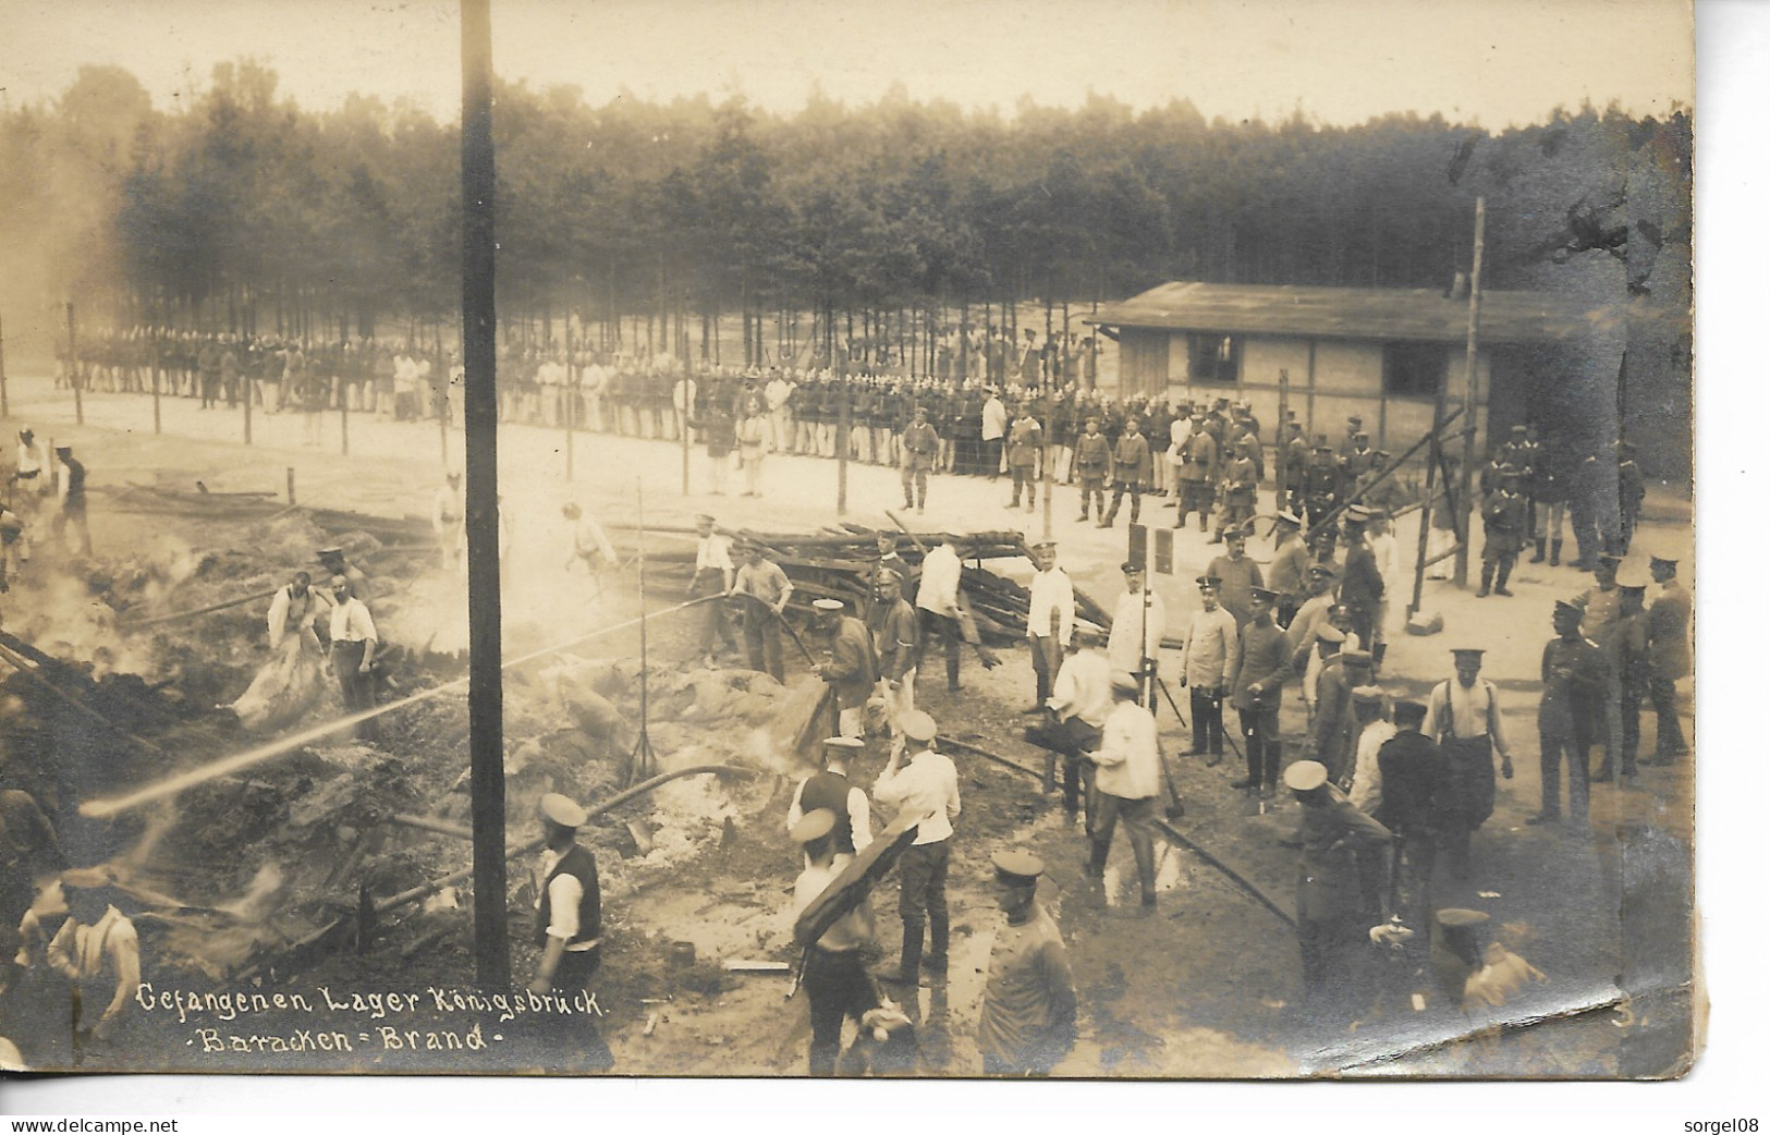
[[[743,92],[804,106],[812,81],[871,103],[1012,112],[1089,90],[1135,108],[1329,124],[1395,110],[1489,127],[1616,99],[1692,99],[1685,0],[494,0],[494,64],[591,103]],[[310,108],[349,92],[458,117],[458,9],[448,0],[0,0],[5,97],[55,97],[81,64],[119,64],[177,106],[211,67],[257,57]]]

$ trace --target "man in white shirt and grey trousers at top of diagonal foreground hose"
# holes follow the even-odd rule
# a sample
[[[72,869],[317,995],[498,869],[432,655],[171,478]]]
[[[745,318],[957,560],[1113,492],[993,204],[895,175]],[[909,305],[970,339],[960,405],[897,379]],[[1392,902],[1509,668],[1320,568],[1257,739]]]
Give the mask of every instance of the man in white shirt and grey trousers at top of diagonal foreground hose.
[[[1156,822],[1156,791],[1161,788],[1161,742],[1156,737],[1156,717],[1136,703],[1136,678],[1115,671],[1112,676],[1113,708],[1101,730],[1101,747],[1094,753],[1099,815],[1094,820],[1089,875],[1094,878],[1106,875],[1112,834],[1122,816],[1147,908],[1156,905],[1152,825]]]

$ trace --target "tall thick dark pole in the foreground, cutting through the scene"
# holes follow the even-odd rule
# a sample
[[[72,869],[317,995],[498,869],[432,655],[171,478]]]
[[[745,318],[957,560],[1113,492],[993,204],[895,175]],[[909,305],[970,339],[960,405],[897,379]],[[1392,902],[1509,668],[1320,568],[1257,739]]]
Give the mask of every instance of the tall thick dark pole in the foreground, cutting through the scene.
[[[473,946],[483,988],[510,986],[504,914],[504,643],[497,579],[497,308],[492,189],[492,0],[460,0],[460,329],[467,367],[467,753]],[[444,429],[448,418],[444,416]]]

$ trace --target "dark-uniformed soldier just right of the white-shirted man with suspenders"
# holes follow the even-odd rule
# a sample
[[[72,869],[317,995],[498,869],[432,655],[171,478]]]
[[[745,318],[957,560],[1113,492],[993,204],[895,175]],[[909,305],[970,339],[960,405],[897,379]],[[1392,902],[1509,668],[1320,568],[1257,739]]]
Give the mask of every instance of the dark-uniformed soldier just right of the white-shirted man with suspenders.
[[[1581,609],[1556,600],[1556,637],[1543,646],[1543,694],[1536,706],[1536,733],[1542,740],[1542,809],[1526,823],[1552,823],[1561,818],[1561,758],[1568,768],[1568,807],[1581,830],[1586,827],[1591,788],[1591,740],[1604,714],[1604,689],[1609,666],[1604,652],[1581,636]]]

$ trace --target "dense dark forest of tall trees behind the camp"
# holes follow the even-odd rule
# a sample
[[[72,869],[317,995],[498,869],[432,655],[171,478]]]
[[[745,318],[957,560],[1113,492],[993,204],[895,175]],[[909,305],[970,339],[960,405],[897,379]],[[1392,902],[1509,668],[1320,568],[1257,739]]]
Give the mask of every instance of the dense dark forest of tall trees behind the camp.
[[[251,60],[188,101],[156,110],[94,66],[60,99],[0,110],[0,303],[310,340],[453,324],[457,124],[361,96],[303,110]],[[501,83],[499,313],[542,342],[570,326],[589,347],[703,358],[742,313],[749,361],[781,312],[812,313],[828,347],[1165,280],[1446,287],[1478,195],[1490,287],[1582,271],[1680,303],[1690,129],[1682,110],[1593,106],[1497,133],[1412,113],[1207,122],[1108,96],[1009,115],[901,89],[862,106],[814,90],[779,115]]]

